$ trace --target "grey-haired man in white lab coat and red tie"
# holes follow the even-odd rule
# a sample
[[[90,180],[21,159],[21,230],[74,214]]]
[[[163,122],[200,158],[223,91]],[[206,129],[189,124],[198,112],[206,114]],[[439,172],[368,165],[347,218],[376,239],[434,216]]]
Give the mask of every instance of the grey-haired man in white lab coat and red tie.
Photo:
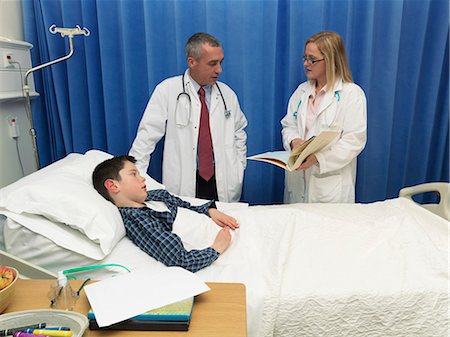
[[[217,79],[224,53],[220,42],[196,33],[186,44],[184,75],[158,84],[130,155],[147,172],[150,155],[165,136],[163,184],[179,196],[239,201],[246,167],[247,119],[233,90]]]

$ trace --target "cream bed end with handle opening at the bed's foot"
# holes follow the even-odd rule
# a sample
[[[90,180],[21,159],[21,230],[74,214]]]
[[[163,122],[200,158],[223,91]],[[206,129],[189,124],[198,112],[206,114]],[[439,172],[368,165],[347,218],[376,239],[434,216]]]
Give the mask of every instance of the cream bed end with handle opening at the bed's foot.
[[[439,195],[439,203],[419,204],[413,200],[413,196],[419,193],[435,192]],[[450,183],[434,182],[416,186],[405,187],[400,190],[400,197],[410,199],[429,211],[450,220]]]

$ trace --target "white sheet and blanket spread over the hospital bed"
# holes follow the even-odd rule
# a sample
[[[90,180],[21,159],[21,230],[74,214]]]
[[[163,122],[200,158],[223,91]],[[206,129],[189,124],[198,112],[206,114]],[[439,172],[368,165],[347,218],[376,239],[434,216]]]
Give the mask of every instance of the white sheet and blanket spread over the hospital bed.
[[[246,285],[249,337],[448,335],[448,221],[404,198],[228,213],[241,228],[197,274]],[[209,245],[217,230],[184,211],[174,225],[186,247]],[[164,268],[127,238],[97,263]]]

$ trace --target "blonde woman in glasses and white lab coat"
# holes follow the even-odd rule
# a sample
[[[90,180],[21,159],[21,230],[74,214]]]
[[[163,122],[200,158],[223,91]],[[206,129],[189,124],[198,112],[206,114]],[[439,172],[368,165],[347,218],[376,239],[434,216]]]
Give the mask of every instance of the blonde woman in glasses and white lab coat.
[[[353,83],[344,43],[335,32],[319,32],[305,43],[308,81],[292,94],[281,120],[283,146],[292,150],[325,130],[340,136],[287,172],[286,203],[355,202],[356,157],[366,144],[366,97]]]

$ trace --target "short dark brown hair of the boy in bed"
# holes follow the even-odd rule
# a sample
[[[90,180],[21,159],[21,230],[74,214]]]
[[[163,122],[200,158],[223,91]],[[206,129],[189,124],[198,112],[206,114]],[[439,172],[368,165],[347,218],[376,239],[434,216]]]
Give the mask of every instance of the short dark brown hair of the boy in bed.
[[[92,172],[92,184],[94,185],[94,188],[103,198],[112,203],[114,203],[114,201],[105,187],[105,181],[108,179],[120,181],[119,171],[123,169],[125,161],[132,162],[133,164],[136,163],[136,159],[134,159],[133,156],[116,156],[101,162],[94,169],[94,172]]]

